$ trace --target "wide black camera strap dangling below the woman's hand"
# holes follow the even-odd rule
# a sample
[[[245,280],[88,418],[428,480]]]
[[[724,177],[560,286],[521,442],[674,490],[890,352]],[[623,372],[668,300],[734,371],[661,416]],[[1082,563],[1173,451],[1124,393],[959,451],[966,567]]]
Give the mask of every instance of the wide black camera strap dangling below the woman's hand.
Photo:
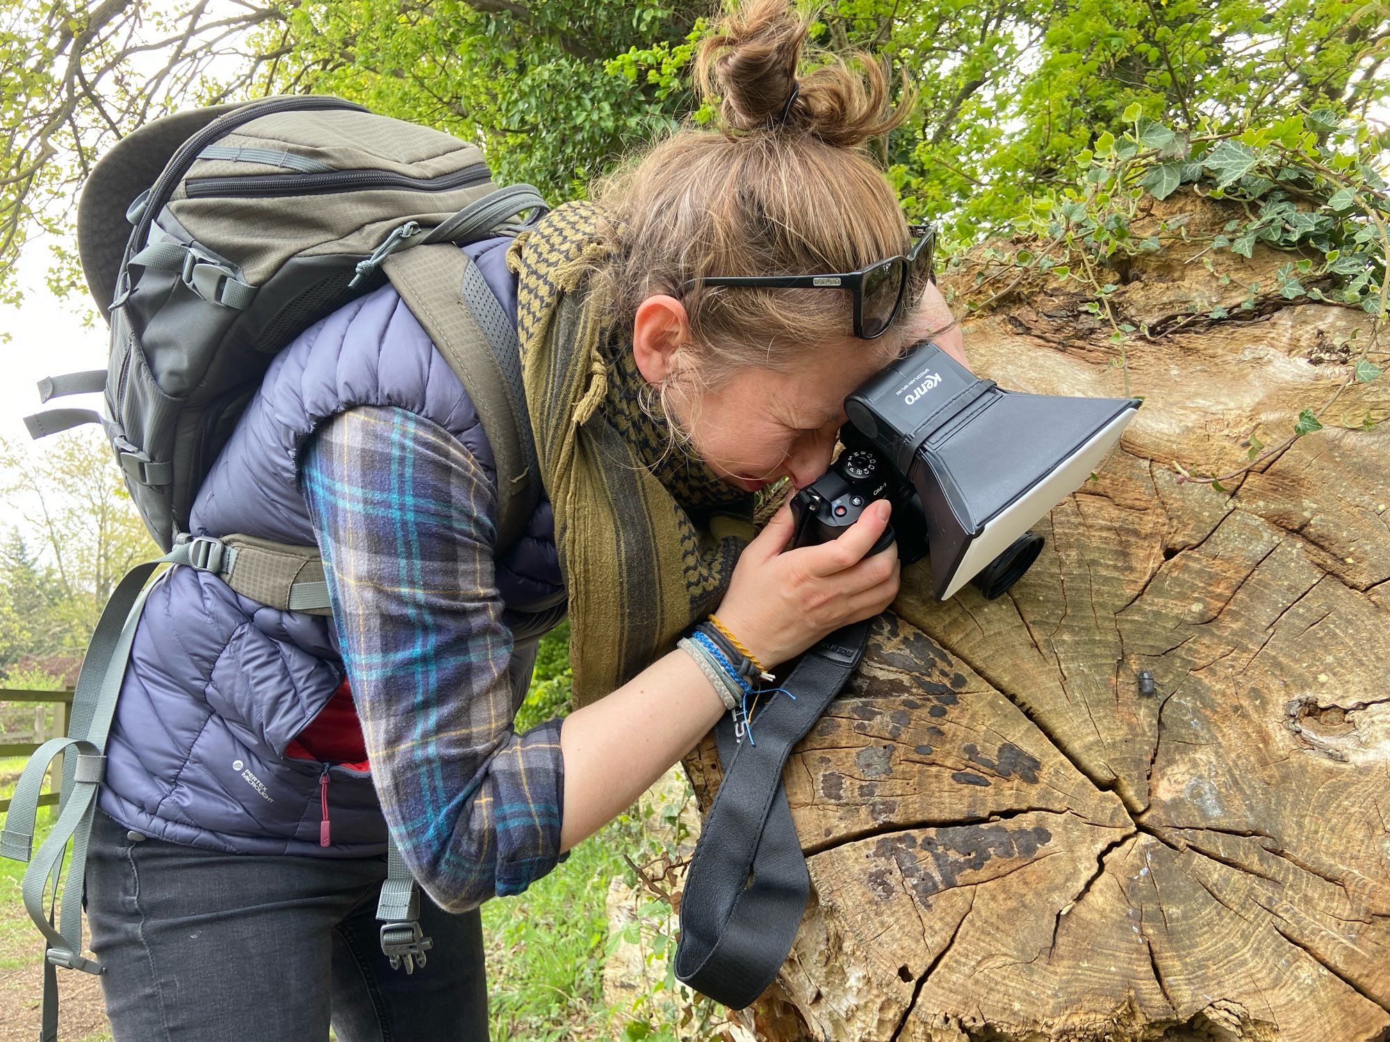
[[[773,982],[810,896],[783,767],[867,643],[866,620],[802,654],[783,685],[795,699],[774,699],[753,721],[758,745],[737,739],[730,714],[714,728],[724,778],[685,874],[676,975],[733,1009],[744,1009]]]

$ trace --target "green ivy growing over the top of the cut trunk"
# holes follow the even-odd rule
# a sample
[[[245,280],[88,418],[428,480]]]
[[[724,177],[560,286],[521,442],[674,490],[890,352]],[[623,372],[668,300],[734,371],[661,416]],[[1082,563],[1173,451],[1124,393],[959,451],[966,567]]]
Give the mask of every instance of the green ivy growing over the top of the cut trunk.
[[[1222,263],[1223,253],[1243,258],[1254,257],[1257,247],[1287,253],[1290,260],[1276,267],[1272,288],[1280,299],[1357,307],[1373,315],[1373,322],[1365,343],[1339,345],[1350,356],[1347,372],[1327,402],[1302,408],[1291,433],[1268,450],[1254,435],[1241,443],[1248,446],[1252,465],[1293,439],[1322,429],[1319,417],[1346,388],[1383,374],[1371,357],[1390,354],[1382,339],[1390,300],[1390,192],[1377,169],[1380,139],[1368,124],[1341,118],[1330,108],[1233,129],[1200,119],[1195,132],[1155,121],[1133,104],[1123,115],[1130,125],[1119,135],[1101,133],[1094,149],[1081,150],[1061,189],[1031,196],[1027,210],[1001,226],[1001,235],[1015,247],[983,250],[995,271],[992,276],[977,272],[974,288],[987,289],[986,279],[1001,272],[1013,274],[1013,281],[990,296],[976,293],[970,307],[988,306],[1027,272],[1083,293],[1090,299],[1080,304],[1081,310],[1111,329],[1109,340],[1116,347],[1112,364],[1122,370],[1129,395],[1127,347],[1151,333],[1125,321],[1112,301],[1116,279],[1122,278],[1118,272],[1130,258],[1177,240],[1205,243],[1191,260],[1200,258],[1218,283],[1227,286],[1237,265]],[[1233,217],[1212,235],[1190,231],[1186,213],[1156,220],[1155,226],[1148,199],[1165,199],[1180,186],[1232,200],[1244,217]],[[1136,231],[1138,224],[1143,232]],[[1194,301],[1193,317],[1218,321],[1252,313],[1262,286],[1255,281],[1244,292],[1234,311],[1216,301]],[[1377,422],[1366,413],[1359,428]],[[1248,470],[1216,478],[1195,477],[1176,463],[1175,468],[1180,481],[1209,482],[1220,492],[1226,490],[1223,479]]]

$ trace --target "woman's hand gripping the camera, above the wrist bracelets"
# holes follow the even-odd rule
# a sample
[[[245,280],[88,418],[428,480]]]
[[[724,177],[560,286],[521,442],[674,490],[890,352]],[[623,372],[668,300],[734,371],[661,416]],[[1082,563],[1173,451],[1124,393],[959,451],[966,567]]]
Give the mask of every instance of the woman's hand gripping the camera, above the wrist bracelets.
[[[783,504],[738,559],[719,621],[771,668],[826,634],[877,615],[898,596],[898,545],[865,554],[890,511],[888,500],[877,500],[838,539],[787,550],[792,514]]]

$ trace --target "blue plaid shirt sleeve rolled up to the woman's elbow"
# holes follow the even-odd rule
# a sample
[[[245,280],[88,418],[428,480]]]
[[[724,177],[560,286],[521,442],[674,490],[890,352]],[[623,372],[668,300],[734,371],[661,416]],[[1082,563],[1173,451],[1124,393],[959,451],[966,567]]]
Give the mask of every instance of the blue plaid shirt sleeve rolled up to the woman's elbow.
[[[402,856],[449,910],[520,893],[559,860],[564,772],[559,720],[512,728],[492,482],[443,428],[375,406],[320,428],[299,475]]]

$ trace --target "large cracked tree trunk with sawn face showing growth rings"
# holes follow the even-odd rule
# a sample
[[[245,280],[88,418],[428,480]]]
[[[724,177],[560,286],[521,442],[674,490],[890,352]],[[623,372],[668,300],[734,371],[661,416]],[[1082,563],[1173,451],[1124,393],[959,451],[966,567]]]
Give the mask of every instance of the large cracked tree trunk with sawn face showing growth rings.
[[[1229,217],[1187,193],[1152,217],[1183,211]],[[909,570],[788,761],[813,896],[762,1038],[1390,1038],[1390,425],[1333,427],[1384,420],[1390,378],[1227,492],[1179,483],[1173,460],[1247,464],[1257,424],[1277,445],[1371,332],[1270,293],[1240,310],[1289,254],[1222,254],[1222,285],[1197,249],[1113,279],[1151,331],[1129,350],[1144,407],[1034,527],[1033,568],[945,604]],[[1125,395],[1083,300],[1022,288],[966,325],[972,367]],[[716,764],[688,761],[706,806]]]

